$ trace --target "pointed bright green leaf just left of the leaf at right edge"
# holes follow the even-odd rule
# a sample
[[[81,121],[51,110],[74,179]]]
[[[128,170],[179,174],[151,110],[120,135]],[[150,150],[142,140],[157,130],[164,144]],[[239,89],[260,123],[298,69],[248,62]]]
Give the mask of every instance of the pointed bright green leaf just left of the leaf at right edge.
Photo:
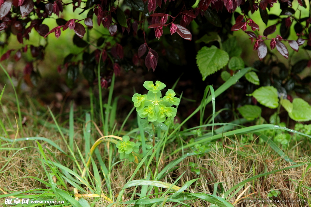
[[[251,95],[263,106],[275,109],[279,106],[277,90],[273,86],[263,86],[255,90]]]

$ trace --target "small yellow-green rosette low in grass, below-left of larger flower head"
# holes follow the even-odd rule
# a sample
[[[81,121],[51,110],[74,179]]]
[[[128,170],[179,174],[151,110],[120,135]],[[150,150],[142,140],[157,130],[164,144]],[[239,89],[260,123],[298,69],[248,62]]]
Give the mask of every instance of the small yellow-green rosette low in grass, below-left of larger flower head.
[[[135,160],[133,152],[139,151],[140,143],[131,142],[129,136],[122,137],[122,141],[117,144],[118,153],[120,153],[120,159],[128,159],[130,162]]]

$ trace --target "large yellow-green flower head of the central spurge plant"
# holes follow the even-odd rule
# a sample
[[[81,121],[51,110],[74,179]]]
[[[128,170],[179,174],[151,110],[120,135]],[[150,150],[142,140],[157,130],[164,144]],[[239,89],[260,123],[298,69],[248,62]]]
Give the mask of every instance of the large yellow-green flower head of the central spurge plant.
[[[147,95],[141,95],[135,93],[132,97],[134,106],[141,118],[146,118],[147,126],[149,122],[162,123],[166,117],[174,118],[177,113],[177,109],[172,107],[173,105],[178,106],[180,99],[174,97],[176,93],[172,89],[168,89],[165,96],[162,98],[160,90],[165,88],[165,84],[160,81],[156,81],[156,85],[152,81],[145,81],[144,87],[148,89]]]

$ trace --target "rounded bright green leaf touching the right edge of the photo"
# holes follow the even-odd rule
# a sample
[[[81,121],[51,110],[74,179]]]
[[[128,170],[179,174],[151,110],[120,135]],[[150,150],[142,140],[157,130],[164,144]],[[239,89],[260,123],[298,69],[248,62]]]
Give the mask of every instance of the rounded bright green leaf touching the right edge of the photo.
[[[295,121],[310,121],[311,120],[311,106],[302,98],[294,98],[293,110],[288,113],[291,119]]]

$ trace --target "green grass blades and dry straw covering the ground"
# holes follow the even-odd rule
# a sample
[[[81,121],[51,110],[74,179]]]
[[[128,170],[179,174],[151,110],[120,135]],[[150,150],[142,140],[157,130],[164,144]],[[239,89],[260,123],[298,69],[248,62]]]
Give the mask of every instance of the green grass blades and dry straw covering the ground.
[[[159,138],[151,148],[140,118],[129,119],[134,108],[117,123],[118,98],[113,99],[113,87],[108,103],[100,103],[100,116],[94,113],[94,118],[91,111],[77,110],[73,104],[69,113],[56,115],[48,108],[43,115],[35,115],[36,103],[18,109],[3,88],[0,101],[9,112],[0,112],[0,204],[11,196],[64,200],[55,206],[232,207],[251,206],[243,203],[244,197],[267,198],[272,190],[281,191],[279,198],[300,198],[311,204],[309,135],[282,128],[292,136],[284,148],[267,134],[281,130],[278,126],[244,126],[245,119],[214,123],[217,97],[248,70],[241,70],[215,91],[208,86],[201,105],[180,124],[168,121],[167,130],[156,132]],[[20,102],[26,106],[27,101]],[[208,112],[205,106],[210,102],[213,110]],[[17,122],[16,108],[27,117],[23,128],[10,124]],[[200,126],[185,128],[199,111]],[[211,119],[204,119],[206,114]],[[58,123],[59,117],[69,121]],[[136,128],[128,128],[129,122]],[[141,154],[134,162],[118,158],[115,144],[125,134],[141,142]],[[304,138],[297,141],[296,134]]]

